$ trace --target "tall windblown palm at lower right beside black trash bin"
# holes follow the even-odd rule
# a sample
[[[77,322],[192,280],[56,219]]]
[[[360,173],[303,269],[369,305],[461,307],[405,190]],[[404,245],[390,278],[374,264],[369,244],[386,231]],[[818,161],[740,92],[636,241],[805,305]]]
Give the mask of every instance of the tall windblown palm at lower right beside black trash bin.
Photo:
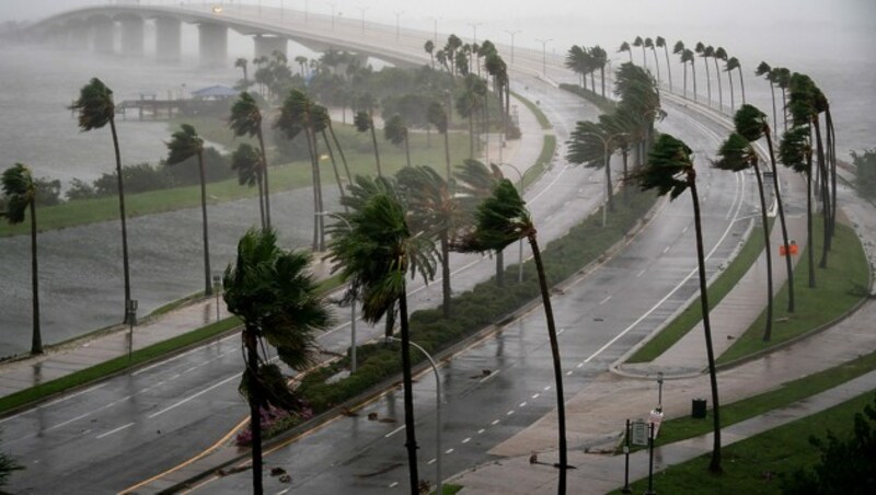
[[[705,279],[705,250],[703,249],[702,222],[700,217],[700,198],[696,193],[696,169],[693,164],[693,151],[683,141],[669,134],[661,134],[652,149],[648,164],[637,179],[643,189],[656,188],[660,195],[669,194],[677,198],[685,189],[691,192],[693,202],[693,223],[696,231],[696,263],[700,272],[700,302],[703,312],[703,332],[705,333],[706,357],[708,359],[708,378],[712,385],[713,404],[713,447],[708,469],[721,472],[721,408],[718,403],[718,381],[715,370],[715,354],[712,348],[712,325],[708,321],[708,291]]]

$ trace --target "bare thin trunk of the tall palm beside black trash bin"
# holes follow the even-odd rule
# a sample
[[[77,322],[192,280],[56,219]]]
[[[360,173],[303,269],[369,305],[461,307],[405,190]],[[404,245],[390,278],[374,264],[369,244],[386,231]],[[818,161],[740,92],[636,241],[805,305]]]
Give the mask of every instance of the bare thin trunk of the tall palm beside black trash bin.
[[[705,249],[703,248],[703,232],[700,220],[700,197],[696,194],[696,172],[691,168],[688,171],[688,185],[691,188],[693,200],[693,223],[696,231],[696,265],[700,272],[700,302],[703,311],[703,333],[705,334],[705,353],[708,360],[708,381],[712,385],[712,460],[708,470],[713,473],[722,472],[721,468],[721,407],[718,402],[718,378],[715,370],[715,352],[712,348],[712,325],[708,321],[708,289],[705,280]]]

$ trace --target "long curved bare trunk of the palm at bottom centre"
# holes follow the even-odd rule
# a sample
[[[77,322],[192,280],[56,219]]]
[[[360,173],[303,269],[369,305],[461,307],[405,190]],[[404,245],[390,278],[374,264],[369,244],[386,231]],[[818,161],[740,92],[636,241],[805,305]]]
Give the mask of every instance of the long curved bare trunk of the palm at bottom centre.
[[[557,435],[560,437],[560,482],[556,485],[556,493],[566,493],[566,470],[568,469],[566,452],[566,403],[563,396],[563,367],[560,362],[560,343],[556,338],[556,324],[554,323],[554,311],[551,307],[551,293],[548,290],[548,277],[544,274],[544,265],[541,261],[539,241],[535,230],[527,235],[529,245],[532,248],[532,258],[535,262],[535,270],[539,274],[539,287],[541,288],[541,300],[544,306],[544,318],[548,322],[548,336],[551,339],[551,357],[554,365],[554,387],[556,388],[556,422]]]

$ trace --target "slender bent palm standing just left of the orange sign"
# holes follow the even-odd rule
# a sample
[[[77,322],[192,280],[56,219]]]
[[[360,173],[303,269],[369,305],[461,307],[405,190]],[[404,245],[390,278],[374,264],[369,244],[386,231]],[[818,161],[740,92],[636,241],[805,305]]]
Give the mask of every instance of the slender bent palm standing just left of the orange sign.
[[[763,330],[763,342],[770,342],[773,330],[773,251],[770,246],[770,223],[766,219],[766,198],[763,195],[763,177],[761,176],[760,165],[758,164],[758,152],[754,151],[754,148],[748,139],[738,134],[738,130],[739,129],[730,134],[721,145],[718,149],[719,159],[712,163],[721,170],[730,172],[739,172],[750,168],[754,169],[754,177],[758,180],[758,194],[760,196],[761,225],[763,227],[763,252],[766,255],[766,325]]]

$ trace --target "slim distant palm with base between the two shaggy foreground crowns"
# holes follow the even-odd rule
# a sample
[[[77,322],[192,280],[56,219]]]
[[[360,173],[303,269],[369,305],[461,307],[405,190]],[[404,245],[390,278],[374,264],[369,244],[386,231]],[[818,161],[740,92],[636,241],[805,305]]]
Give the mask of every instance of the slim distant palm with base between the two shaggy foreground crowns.
[[[313,181],[313,251],[322,251],[321,248],[324,243],[324,235],[322,229],[323,217],[319,215],[322,209],[322,179],[320,174],[318,154],[316,154],[316,138],[313,135],[314,123],[314,104],[300,90],[291,90],[289,95],[283,102],[280,114],[274,122],[274,127],[281,129],[288,139],[295,139],[301,131],[304,133],[304,140],[308,145],[308,153],[310,156],[310,170]]]

